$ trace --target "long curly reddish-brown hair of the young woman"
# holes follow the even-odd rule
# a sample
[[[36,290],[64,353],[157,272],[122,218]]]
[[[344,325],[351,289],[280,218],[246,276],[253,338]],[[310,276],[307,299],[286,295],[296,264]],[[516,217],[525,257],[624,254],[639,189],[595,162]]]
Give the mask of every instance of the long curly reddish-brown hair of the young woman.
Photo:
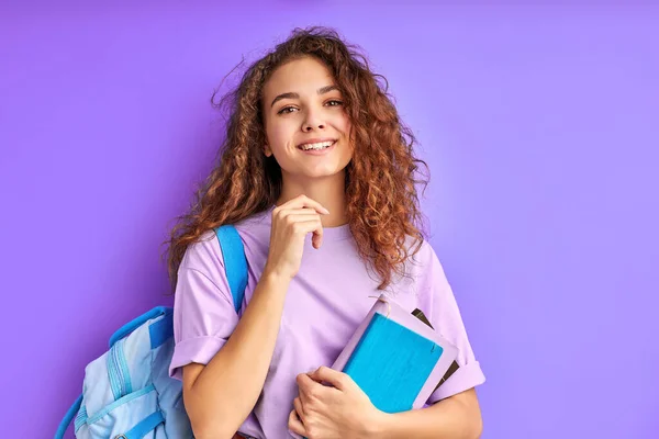
[[[424,189],[427,185],[427,179],[416,179],[418,165],[426,170],[427,165],[414,157],[416,139],[399,117],[388,94],[387,79],[372,72],[358,47],[342,41],[335,30],[314,26],[295,29],[288,40],[254,63],[237,88],[216,105],[228,108],[219,164],[198,190],[191,212],[177,218],[179,223],[164,243],[169,244],[172,291],[188,245],[204,232],[235,224],[278,200],[281,169],[273,156],[263,154],[266,138],[261,93],[278,67],[304,56],[321,60],[333,74],[353,125],[346,214],[359,256],[367,269],[375,269],[379,275],[379,290],[391,283],[393,272],[405,275],[403,262],[418,251],[424,240],[424,233],[417,228],[424,217],[415,184],[423,183]]]

